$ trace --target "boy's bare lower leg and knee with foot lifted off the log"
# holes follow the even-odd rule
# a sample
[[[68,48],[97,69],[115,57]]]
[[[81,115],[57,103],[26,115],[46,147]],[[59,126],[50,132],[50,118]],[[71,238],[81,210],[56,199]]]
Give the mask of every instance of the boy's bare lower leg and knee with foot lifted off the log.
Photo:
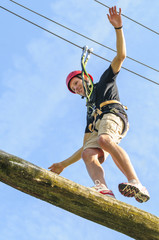
[[[109,135],[102,134],[98,139],[102,149],[109,152],[117,167],[124,173],[128,181],[134,179],[139,182],[128,154],[117,145]]]

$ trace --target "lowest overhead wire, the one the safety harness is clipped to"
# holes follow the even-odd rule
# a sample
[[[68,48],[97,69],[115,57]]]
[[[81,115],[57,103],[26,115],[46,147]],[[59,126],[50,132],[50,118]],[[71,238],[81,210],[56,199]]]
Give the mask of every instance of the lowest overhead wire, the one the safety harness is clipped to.
[[[9,13],[11,13],[11,14],[13,14],[13,15],[21,18],[21,19],[23,19],[24,21],[29,22],[30,24],[32,24],[32,25],[34,25],[34,26],[36,26],[36,27],[38,27],[38,28],[40,28],[40,29],[42,29],[42,30],[44,30],[44,31],[46,31],[46,32],[48,32],[48,33],[50,33],[50,34],[52,34],[52,35],[54,35],[54,36],[56,36],[56,37],[58,37],[58,38],[60,38],[60,39],[62,39],[62,40],[64,40],[64,41],[70,43],[70,44],[72,44],[72,45],[74,45],[75,47],[78,47],[78,48],[80,48],[80,49],[83,49],[83,47],[79,46],[78,44],[73,43],[72,41],[69,41],[68,39],[63,38],[63,37],[61,37],[61,36],[53,33],[52,31],[50,31],[50,30],[48,30],[48,29],[46,29],[46,28],[44,28],[44,27],[42,27],[42,26],[40,26],[40,25],[38,25],[38,24],[30,21],[30,20],[28,20],[27,18],[22,17],[21,15],[15,13],[15,12],[12,12],[11,10],[9,10],[9,9],[3,7],[3,6],[0,6],[0,8],[2,8],[3,10],[5,10],[5,11],[7,11],[7,12],[9,12]],[[98,58],[101,58],[101,59],[103,59],[103,60],[111,63],[110,60],[108,60],[108,59],[106,59],[106,58],[104,58],[104,57],[102,57],[102,56],[100,56],[100,55],[98,55],[98,54],[95,54],[94,52],[93,52],[92,54],[93,54],[94,56],[98,57]],[[152,83],[154,83],[154,84],[156,84],[156,85],[159,85],[158,82],[156,82],[156,81],[154,81],[154,80],[152,80],[152,79],[149,79],[149,78],[147,78],[147,77],[145,77],[145,76],[142,76],[142,75],[140,75],[140,74],[138,74],[138,73],[136,73],[136,72],[134,72],[134,71],[132,71],[132,70],[130,70],[130,69],[127,69],[127,68],[125,68],[125,67],[122,67],[122,68],[123,68],[124,70],[128,71],[128,72],[131,72],[131,73],[133,73],[133,74],[135,74],[135,75],[137,75],[137,76],[139,76],[139,77],[141,77],[141,78],[149,81],[149,82],[152,82]]]

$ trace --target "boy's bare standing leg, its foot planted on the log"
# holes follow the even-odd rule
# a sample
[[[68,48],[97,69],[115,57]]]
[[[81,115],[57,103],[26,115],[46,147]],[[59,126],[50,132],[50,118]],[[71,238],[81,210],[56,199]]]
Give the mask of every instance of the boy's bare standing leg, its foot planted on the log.
[[[98,161],[98,157],[100,157],[102,154],[104,153],[101,149],[88,148],[84,150],[82,158],[86,164],[87,171],[93,182],[95,183],[96,180],[99,180],[100,183],[104,184],[107,187],[104,178],[104,169]]]

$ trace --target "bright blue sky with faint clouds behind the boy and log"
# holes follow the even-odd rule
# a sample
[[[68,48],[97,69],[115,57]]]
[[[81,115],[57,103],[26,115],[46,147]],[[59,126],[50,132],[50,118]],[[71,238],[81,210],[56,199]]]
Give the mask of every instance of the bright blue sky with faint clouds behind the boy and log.
[[[17,0],[19,3],[115,48],[115,31],[107,20],[108,9],[93,0]],[[9,0],[1,6],[29,18],[74,43],[113,59],[114,53],[48,22]],[[122,8],[122,13],[159,32],[157,0],[103,1]],[[123,18],[127,55],[159,68],[158,35]],[[80,69],[81,50],[0,9],[0,148],[43,168],[69,157],[81,147],[86,123],[85,100],[65,86],[66,75]],[[95,82],[109,63],[91,56],[87,70]],[[124,67],[159,82],[159,73],[126,59]],[[159,86],[125,70],[117,83],[121,102],[128,106],[130,130],[121,142],[128,152],[151,200],[139,204],[124,198],[118,184],[125,177],[111,157],[103,164],[106,180],[116,198],[158,216],[159,213]],[[65,169],[61,176],[92,186],[84,163]],[[111,229],[82,219],[53,205],[0,183],[0,232],[8,240],[109,240],[131,239]],[[77,227],[78,226],[78,227]]]

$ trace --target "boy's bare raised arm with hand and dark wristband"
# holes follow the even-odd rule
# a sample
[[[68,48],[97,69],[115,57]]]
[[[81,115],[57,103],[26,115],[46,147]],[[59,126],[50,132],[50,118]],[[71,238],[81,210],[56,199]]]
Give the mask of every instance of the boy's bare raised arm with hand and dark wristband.
[[[122,63],[126,58],[126,44],[122,28],[121,8],[117,13],[116,6],[109,8],[109,14],[107,14],[110,23],[113,25],[116,31],[116,50],[117,54],[113,59],[111,66],[114,73],[120,71]]]

